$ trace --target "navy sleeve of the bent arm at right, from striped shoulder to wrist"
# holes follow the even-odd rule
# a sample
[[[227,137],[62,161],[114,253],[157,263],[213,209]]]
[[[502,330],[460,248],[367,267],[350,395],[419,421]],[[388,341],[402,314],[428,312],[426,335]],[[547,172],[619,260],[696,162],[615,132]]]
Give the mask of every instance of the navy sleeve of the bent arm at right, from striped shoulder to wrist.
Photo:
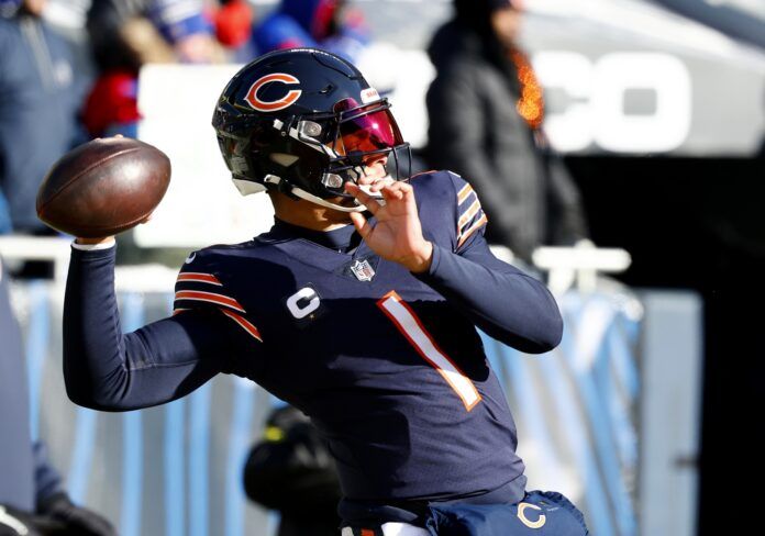
[[[530,354],[557,346],[563,321],[544,284],[497,259],[484,232],[478,196],[462,177],[422,177],[420,220],[433,243],[430,269],[415,277],[436,290],[489,336]]]

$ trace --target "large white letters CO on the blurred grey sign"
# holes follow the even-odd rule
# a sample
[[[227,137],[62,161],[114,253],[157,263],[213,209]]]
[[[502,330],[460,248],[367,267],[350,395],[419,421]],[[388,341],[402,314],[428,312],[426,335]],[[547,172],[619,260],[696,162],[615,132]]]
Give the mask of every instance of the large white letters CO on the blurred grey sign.
[[[534,69],[546,90],[566,96],[562,110],[551,110],[545,131],[558,150],[586,150],[595,143],[616,153],[667,153],[686,141],[692,119],[692,85],[676,56],[650,52],[584,54],[545,51],[534,55]],[[630,91],[655,94],[655,109],[627,110]]]

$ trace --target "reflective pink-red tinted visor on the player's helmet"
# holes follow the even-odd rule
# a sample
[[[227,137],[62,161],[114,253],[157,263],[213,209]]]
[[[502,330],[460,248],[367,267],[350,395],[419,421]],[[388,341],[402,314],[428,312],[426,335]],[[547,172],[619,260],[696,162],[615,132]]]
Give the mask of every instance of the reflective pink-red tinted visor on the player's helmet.
[[[342,155],[381,153],[403,144],[396,119],[386,101],[359,107],[353,99],[334,105],[340,113],[335,150]]]

